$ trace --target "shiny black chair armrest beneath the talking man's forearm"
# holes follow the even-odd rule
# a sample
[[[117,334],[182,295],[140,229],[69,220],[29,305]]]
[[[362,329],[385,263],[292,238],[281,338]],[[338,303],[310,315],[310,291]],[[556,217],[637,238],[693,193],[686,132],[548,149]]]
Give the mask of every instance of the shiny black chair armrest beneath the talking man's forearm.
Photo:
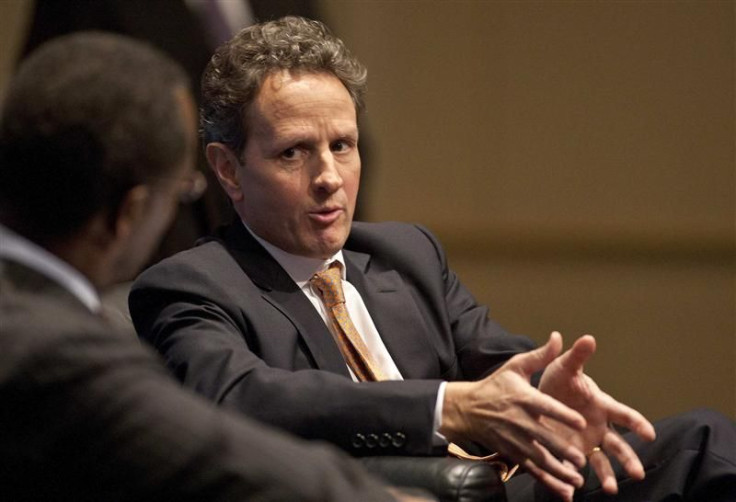
[[[397,487],[427,490],[440,502],[505,502],[496,470],[485,462],[449,457],[363,457],[374,475]]]

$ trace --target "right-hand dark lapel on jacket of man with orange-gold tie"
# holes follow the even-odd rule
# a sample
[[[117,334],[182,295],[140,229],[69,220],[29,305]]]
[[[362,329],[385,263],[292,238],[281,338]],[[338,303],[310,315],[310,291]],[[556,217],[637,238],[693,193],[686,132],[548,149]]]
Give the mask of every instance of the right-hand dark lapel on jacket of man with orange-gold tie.
[[[343,250],[348,281],[365,302],[391,358],[405,379],[435,378],[440,373],[436,349],[411,293],[395,270],[369,266],[370,255]]]

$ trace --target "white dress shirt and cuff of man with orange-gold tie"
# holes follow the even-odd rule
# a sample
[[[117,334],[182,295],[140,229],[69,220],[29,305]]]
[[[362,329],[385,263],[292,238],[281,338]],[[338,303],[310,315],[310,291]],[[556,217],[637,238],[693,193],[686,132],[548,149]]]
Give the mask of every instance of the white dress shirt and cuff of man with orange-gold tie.
[[[368,308],[363,302],[363,298],[360,296],[360,293],[358,293],[358,290],[355,289],[355,287],[346,280],[345,259],[343,258],[342,250],[338,251],[326,260],[293,255],[291,253],[287,253],[283,249],[274,246],[269,242],[266,242],[265,240],[258,237],[255,233],[253,233],[248,225],[246,225],[245,223],[243,223],[243,225],[248,230],[248,232],[250,232],[253,238],[255,238],[266,249],[266,251],[268,251],[273,259],[276,260],[279,265],[281,265],[286,273],[289,274],[289,277],[291,277],[291,279],[297,284],[297,286],[299,286],[299,288],[306,295],[306,297],[312,303],[317,312],[319,312],[319,315],[322,317],[322,320],[325,322],[330,331],[332,331],[333,328],[331,323],[328,321],[327,310],[325,309],[324,303],[322,303],[319,292],[310,284],[309,279],[311,279],[311,277],[317,272],[326,270],[332,262],[339,261],[342,265],[342,288],[345,294],[345,306],[348,309],[350,320],[353,321],[355,328],[358,330],[358,334],[361,336],[361,338],[363,338],[363,341],[368,347],[368,350],[370,351],[371,356],[373,356],[379,369],[384,375],[386,375],[386,379],[404,379],[401,376],[399,369],[396,367],[396,363],[394,363],[394,360],[391,358],[391,354],[389,354],[388,349],[386,349],[386,345],[383,343],[381,335],[378,333],[376,325],[373,323],[373,319],[368,312]],[[354,381],[357,382],[358,379],[353,371],[350,369],[350,366],[348,366],[347,363],[346,366],[348,367],[348,371],[350,371],[350,376],[353,378]],[[440,426],[442,425],[442,404],[445,398],[446,385],[447,382],[442,382],[440,384],[439,391],[437,392],[437,402],[435,404],[434,410],[433,427],[434,443],[436,445],[447,444],[445,437],[438,432]]]

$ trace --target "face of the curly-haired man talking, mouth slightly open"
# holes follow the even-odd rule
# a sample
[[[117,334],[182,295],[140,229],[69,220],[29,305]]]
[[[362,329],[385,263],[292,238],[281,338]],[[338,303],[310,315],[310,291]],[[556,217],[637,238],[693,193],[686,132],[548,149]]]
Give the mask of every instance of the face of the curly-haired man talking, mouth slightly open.
[[[355,105],[329,74],[265,79],[245,113],[246,145],[231,198],[258,236],[292,254],[328,258],[350,232],[360,184]]]

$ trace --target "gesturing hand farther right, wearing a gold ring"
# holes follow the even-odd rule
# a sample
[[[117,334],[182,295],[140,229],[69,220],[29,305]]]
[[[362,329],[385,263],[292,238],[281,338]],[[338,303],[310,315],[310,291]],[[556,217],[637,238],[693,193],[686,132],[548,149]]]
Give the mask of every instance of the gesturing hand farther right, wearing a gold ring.
[[[559,333],[553,333],[559,337]],[[645,441],[655,437],[654,427],[638,411],[601,391],[583,367],[595,353],[595,338],[580,337],[573,346],[552,361],[544,371],[539,390],[580,413],[585,428],[575,429],[561,421],[542,421],[563,436],[577,449],[588,454],[593,471],[607,493],[617,493],[618,485],[609,457],[616,458],[626,473],[634,479],[644,478],[644,468],[631,446],[611,425],[623,426]]]

